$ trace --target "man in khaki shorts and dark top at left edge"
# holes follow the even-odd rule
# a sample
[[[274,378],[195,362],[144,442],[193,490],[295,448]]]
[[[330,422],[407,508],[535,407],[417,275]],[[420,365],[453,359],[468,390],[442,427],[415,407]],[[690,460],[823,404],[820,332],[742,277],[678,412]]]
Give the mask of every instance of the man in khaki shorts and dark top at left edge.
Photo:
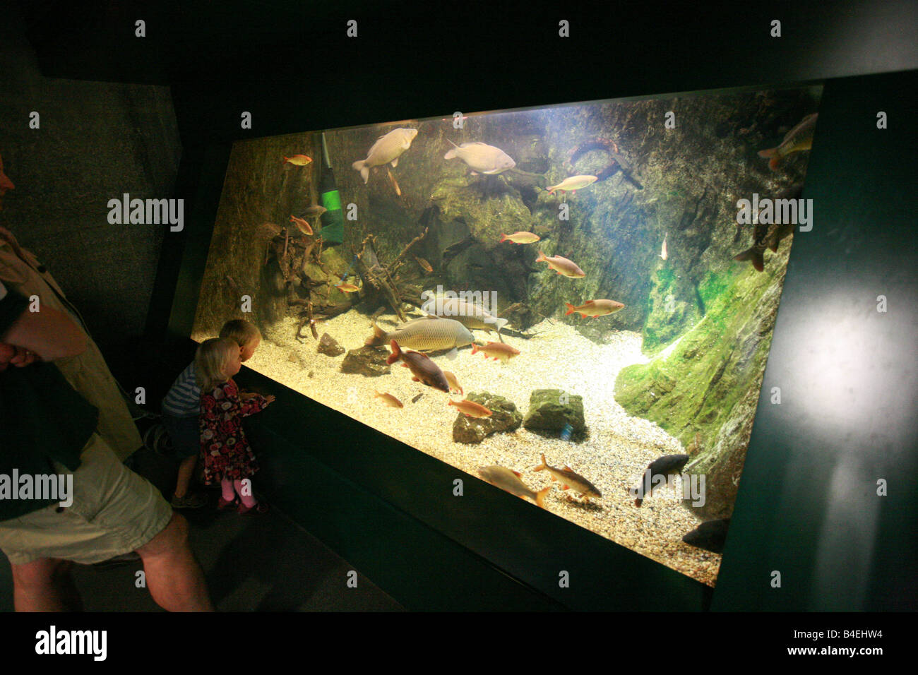
[[[0,159],[0,199],[13,187]],[[32,312],[35,297],[39,311]],[[4,228],[0,436],[0,473],[47,467],[73,474],[69,506],[0,500],[0,549],[12,564],[17,611],[78,609],[70,561],[130,551],[143,560],[147,587],[163,609],[212,611],[185,519],[121,462],[140,447],[140,435],[102,354],[61,288]]]

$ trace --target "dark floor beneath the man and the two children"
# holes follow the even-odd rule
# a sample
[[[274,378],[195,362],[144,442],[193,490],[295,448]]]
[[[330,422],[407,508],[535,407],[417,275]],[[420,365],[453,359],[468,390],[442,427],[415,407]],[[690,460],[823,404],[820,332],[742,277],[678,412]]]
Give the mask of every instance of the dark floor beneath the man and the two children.
[[[134,468],[160,489],[174,476],[173,462],[151,451],[133,457]],[[318,539],[273,510],[259,516],[218,512],[211,504],[182,513],[191,524],[191,546],[204,568],[221,612],[374,612],[404,608]],[[76,566],[74,578],[88,612],[157,612],[150,593],[135,584],[140,561],[117,567]],[[0,611],[13,610],[10,567],[0,553]]]

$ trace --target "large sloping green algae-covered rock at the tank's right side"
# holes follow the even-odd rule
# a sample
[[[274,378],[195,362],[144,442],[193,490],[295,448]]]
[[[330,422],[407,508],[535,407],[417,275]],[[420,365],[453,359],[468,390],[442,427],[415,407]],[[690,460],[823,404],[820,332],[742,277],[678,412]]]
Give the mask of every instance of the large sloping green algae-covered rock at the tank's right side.
[[[705,500],[683,503],[700,518],[733,512],[788,251],[782,245],[765,272],[747,266],[707,274],[699,287],[704,317],[671,350],[622,368],[616,379],[615,399],[625,411],[692,449],[690,473],[704,475]]]

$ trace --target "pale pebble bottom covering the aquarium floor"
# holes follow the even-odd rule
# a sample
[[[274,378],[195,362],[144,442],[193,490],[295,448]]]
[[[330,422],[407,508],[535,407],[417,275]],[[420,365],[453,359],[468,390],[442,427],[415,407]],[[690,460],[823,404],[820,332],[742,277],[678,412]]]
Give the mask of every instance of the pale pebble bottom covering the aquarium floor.
[[[395,317],[389,315],[380,317],[378,323],[386,329],[396,325]],[[639,334],[610,332],[609,342],[600,345],[570,325],[543,321],[532,328],[531,332],[537,333],[532,339],[504,337],[505,342],[521,351],[507,364],[486,359],[481,353],[473,355],[471,347],[459,350],[453,359],[447,354],[433,356],[443,370],[453,371],[465,395],[482,390],[499,394],[513,401],[523,415],[529,409],[532,389],[559,388],[583,397],[589,431],[583,443],[545,438],[520,428],[515,433],[496,433],[480,444],[467,445],[453,442],[457,411],[447,405],[447,394],[411,381],[409,369],[397,365],[390,375],[382,377],[343,374],[343,354],[333,358],[319,354],[318,341],[311,336],[297,340],[296,328],[293,318],[262,327],[262,345],[246,366],[476,478],[477,467],[496,464],[520,471],[523,482],[531,489],[543,489],[551,478],[546,471],[534,472],[532,468],[539,465],[544,453],[551,466],[571,467],[602,493],[601,499],[588,504],[571,501],[566,495],[573,490],[563,491],[555,483],[545,500],[548,511],[714,585],[721,556],[681,541],[682,535],[697,527],[699,521],[680,504],[680,495],[664,488],[636,508],[627,492],[656,457],[685,452],[655,422],[629,416],[612,396],[619,370],[646,361]],[[351,310],[319,323],[319,336],[323,332],[345,349],[355,349],[364,345],[372,327],[368,317]],[[486,332],[474,333],[476,339],[497,340],[493,333],[490,337]],[[194,337],[200,341],[210,336]],[[374,397],[374,391],[392,394],[405,407],[386,406]],[[412,403],[411,399],[420,393],[423,396]],[[444,495],[444,499],[450,497]],[[532,508],[538,507],[532,504]]]

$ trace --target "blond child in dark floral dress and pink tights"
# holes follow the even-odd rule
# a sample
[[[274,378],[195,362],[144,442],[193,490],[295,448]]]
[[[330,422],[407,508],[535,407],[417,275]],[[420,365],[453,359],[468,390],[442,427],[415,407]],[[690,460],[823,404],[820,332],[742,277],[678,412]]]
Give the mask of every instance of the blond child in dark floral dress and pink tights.
[[[241,368],[239,344],[228,338],[205,340],[195,355],[201,380],[201,459],[204,482],[219,482],[223,494],[218,508],[235,503],[240,513],[267,511],[267,504],[255,501],[252,475],[258,470],[252,447],[242,431],[242,418],[262,411],[273,396],[239,393],[232,377]],[[245,481],[245,482],[243,482]]]

